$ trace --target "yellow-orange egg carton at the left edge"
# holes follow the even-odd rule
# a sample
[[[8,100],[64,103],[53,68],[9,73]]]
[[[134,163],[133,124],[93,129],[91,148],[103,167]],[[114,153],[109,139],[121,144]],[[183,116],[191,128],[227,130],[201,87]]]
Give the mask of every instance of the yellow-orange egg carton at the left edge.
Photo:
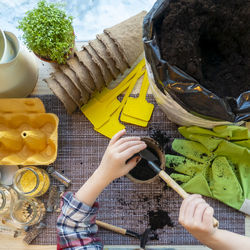
[[[6,99],[6,102],[10,100]],[[21,100],[26,103],[29,100],[28,103],[32,103],[32,99]],[[15,99],[13,101],[15,102]],[[20,100],[18,102],[20,103]],[[26,109],[25,113],[22,113],[20,107],[21,105],[16,113],[0,110],[0,164],[53,163],[57,157],[58,117],[55,114],[42,113],[41,105],[37,109],[32,108],[32,111]]]

